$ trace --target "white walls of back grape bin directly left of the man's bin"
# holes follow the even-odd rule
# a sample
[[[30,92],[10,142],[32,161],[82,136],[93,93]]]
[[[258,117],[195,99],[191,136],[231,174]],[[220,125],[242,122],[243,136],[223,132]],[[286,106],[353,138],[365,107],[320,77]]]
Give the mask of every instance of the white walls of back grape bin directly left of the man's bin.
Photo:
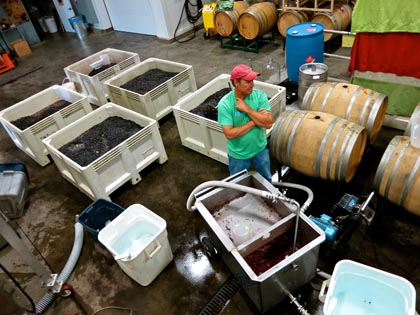
[[[152,69],[178,74],[146,94],[121,88],[128,81]],[[172,112],[179,99],[197,90],[192,66],[177,62],[149,58],[105,82],[111,102],[159,120]]]

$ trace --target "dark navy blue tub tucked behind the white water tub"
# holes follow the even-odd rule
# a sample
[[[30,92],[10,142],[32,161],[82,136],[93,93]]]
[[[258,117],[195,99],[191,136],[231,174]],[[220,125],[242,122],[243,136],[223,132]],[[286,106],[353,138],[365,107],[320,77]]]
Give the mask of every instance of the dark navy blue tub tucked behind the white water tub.
[[[114,202],[98,199],[83,210],[77,222],[82,224],[95,240],[98,240],[99,232],[124,210]]]

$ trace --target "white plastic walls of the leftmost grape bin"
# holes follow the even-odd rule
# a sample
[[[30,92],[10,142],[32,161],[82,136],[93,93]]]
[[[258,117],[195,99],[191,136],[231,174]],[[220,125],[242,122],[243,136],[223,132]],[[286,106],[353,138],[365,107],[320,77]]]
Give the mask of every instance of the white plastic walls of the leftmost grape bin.
[[[21,130],[11,123],[19,118],[30,116],[59,100],[65,100],[71,104],[25,130]],[[51,161],[48,158],[48,151],[42,143],[42,139],[91,111],[92,107],[86,96],[60,85],[53,85],[1,111],[0,122],[18,148],[33,158],[39,165],[45,166]]]

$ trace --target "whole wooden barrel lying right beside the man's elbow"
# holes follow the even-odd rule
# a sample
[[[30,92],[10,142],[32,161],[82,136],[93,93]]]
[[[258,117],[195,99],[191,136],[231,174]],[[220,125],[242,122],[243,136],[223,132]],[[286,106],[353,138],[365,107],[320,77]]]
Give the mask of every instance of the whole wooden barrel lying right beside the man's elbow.
[[[302,174],[349,182],[366,146],[364,127],[332,114],[283,112],[276,120],[270,152],[279,163]]]

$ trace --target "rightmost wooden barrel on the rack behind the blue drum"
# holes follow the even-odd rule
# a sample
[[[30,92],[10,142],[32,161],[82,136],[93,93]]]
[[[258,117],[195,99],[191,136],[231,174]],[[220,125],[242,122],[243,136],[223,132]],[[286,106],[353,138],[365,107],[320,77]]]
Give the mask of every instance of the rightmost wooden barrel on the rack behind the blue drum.
[[[352,9],[349,5],[336,4],[332,12],[315,13],[312,17],[312,21],[324,24],[326,30],[344,31],[350,24],[351,14]],[[337,34],[324,31],[324,42],[336,36]]]

